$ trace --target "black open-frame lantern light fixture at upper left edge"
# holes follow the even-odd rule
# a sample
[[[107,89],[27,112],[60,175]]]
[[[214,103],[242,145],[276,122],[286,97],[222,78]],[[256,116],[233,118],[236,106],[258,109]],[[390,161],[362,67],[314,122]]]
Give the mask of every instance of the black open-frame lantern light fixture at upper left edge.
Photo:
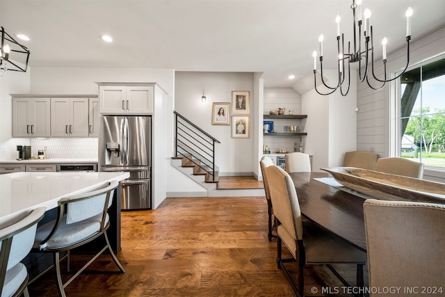
[[[20,45],[1,27],[0,76],[1,71],[4,73],[8,73],[8,71],[26,72],[28,61],[29,50]]]

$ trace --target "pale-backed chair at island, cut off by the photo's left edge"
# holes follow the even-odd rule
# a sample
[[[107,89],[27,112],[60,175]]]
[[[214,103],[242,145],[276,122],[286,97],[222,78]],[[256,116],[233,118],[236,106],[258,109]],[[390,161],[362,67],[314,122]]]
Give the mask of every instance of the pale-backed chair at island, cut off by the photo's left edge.
[[[45,207],[0,220],[0,296],[29,296],[29,275],[21,262],[33,247]]]

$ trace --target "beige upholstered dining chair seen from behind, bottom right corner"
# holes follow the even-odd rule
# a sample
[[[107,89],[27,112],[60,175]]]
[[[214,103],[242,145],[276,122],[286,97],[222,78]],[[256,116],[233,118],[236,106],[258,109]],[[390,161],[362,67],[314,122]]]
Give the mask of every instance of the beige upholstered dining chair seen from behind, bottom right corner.
[[[363,209],[369,287],[400,287],[398,296],[443,296],[445,204],[368,199]]]

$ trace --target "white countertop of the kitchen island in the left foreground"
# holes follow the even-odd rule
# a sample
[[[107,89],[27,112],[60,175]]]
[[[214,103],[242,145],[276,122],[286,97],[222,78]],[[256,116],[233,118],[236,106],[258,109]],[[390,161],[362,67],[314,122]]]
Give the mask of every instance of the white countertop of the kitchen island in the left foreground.
[[[0,175],[0,221],[35,207],[56,208],[60,198],[76,195],[129,172],[15,172]]]

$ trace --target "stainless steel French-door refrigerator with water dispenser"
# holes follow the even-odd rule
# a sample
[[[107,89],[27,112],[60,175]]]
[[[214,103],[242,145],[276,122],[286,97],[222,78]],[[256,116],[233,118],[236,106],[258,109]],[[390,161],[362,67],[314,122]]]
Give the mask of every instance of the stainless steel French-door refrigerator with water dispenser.
[[[121,208],[150,209],[152,118],[102,116],[98,147],[99,171],[130,173],[121,182]]]

